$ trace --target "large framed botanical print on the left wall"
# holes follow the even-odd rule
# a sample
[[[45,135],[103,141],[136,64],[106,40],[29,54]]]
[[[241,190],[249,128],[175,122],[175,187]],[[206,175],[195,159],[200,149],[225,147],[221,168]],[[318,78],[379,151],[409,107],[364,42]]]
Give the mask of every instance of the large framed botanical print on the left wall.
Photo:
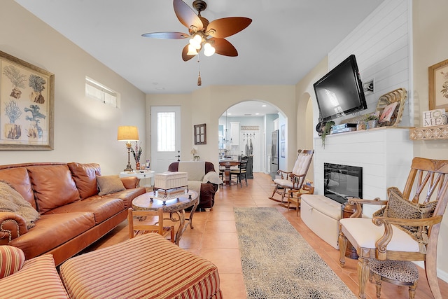
[[[52,150],[55,75],[0,51],[0,150]]]

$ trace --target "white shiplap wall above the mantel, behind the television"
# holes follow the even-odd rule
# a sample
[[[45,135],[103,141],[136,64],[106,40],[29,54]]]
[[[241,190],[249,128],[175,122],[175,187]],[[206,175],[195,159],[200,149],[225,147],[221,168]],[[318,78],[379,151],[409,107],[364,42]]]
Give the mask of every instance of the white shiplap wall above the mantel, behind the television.
[[[409,107],[412,107],[412,104],[409,105],[412,103],[412,81],[409,78],[412,65],[409,55],[412,45],[411,9],[410,0],[384,1],[328,53],[328,69],[333,69],[354,54],[361,80],[374,79],[374,93],[366,95],[367,110],[362,114],[375,111],[381,95],[396,88],[408,91],[401,127],[411,125],[412,121],[409,120]],[[339,120],[336,122],[339,123]]]

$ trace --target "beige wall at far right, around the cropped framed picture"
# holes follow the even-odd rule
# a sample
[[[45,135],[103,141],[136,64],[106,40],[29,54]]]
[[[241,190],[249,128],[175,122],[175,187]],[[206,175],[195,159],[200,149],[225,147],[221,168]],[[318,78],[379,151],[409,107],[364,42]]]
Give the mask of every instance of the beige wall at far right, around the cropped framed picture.
[[[414,0],[414,121],[421,126],[421,112],[428,106],[428,67],[448,59],[448,39],[446,34],[448,1]],[[448,160],[448,140],[414,141],[414,155],[425,158]],[[437,250],[437,267],[448,281],[448,257],[443,251],[448,248],[448,216],[440,228]]]

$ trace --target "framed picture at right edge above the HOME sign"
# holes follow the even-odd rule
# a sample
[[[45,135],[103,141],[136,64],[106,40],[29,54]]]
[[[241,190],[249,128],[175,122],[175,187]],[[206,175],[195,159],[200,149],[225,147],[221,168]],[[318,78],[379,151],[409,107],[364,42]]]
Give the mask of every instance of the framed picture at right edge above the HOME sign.
[[[429,110],[448,111],[448,60],[428,68]]]

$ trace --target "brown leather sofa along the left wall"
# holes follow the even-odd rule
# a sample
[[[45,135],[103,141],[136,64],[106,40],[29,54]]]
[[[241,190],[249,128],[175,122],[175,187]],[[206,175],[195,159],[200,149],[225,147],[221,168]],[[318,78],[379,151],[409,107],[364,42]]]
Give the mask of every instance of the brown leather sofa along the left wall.
[[[0,180],[39,213],[33,228],[12,212],[0,212],[0,245],[28,259],[50,253],[59,265],[123,222],[132,200],[146,193],[136,177],[121,178],[125,190],[99,195],[98,164],[39,162],[0,165]],[[104,178],[104,177],[103,177]]]

